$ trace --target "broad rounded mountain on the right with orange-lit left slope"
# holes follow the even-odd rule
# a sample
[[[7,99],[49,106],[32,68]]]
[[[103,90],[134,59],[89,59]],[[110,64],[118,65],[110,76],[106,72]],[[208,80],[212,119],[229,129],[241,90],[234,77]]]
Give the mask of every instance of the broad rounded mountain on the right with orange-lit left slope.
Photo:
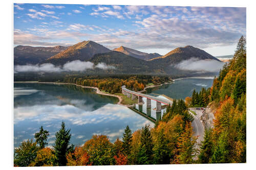
[[[167,53],[162,57],[157,57],[149,61],[154,62],[156,64],[164,64],[167,66],[167,65],[177,64],[183,60],[188,60],[193,57],[198,58],[200,60],[210,59],[210,60],[220,61],[219,59],[206,53],[205,51],[190,45],[187,45],[185,47],[178,47],[175,50],[170,51],[169,53]]]

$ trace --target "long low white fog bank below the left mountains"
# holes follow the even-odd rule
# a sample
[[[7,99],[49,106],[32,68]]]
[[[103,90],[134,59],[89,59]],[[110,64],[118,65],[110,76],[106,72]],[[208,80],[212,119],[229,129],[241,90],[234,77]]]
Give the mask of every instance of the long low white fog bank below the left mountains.
[[[84,71],[87,69],[115,69],[114,66],[106,65],[105,63],[98,63],[94,65],[90,61],[75,60],[67,62],[62,67],[55,66],[51,63],[36,64],[36,65],[15,65],[14,73],[17,72],[61,72],[61,71]]]

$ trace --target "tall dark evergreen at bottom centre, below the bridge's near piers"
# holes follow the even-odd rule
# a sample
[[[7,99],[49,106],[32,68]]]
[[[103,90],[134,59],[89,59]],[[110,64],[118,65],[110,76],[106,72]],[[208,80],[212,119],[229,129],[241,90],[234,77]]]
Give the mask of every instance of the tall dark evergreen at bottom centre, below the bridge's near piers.
[[[139,164],[152,164],[153,162],[153,141],[150,128],[145,125],[142,128],[139,148]]]

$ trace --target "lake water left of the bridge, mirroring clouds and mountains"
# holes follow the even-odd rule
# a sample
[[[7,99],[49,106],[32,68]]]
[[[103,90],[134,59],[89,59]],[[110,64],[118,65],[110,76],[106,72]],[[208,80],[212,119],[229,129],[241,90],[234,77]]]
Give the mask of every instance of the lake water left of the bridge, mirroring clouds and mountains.
[[[55,132],[61,121],[71,128],[71,143],[82,144],[94,134],[107,135],[112,142],[127,125],[132,131],[154,124],[124,106],[117,98],[96,94],[92,89],[74,85],[14,84],[15,90],[34,90],[14,97],[14,147],[44,126],[50,132],[49,145],[53,145]]]

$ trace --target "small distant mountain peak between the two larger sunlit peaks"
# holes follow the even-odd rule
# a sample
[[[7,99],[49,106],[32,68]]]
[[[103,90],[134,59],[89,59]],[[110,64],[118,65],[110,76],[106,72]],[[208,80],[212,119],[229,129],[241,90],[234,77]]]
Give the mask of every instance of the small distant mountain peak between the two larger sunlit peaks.
[[[158,53],[150,53],[150,54],[143,53],[143,52],[134,50],[132,48],[127,48],[125,46],[120,46],[119,48],[115,48],[113,51],[121,52],[121,53],[124,53],[126,55],[129,55],[129,56],[132,56],[132,57],[136,57],[136,58],[139,58],[139,59],[142,59],[142,60],[150,60],[150,59],[153,59],[153,58],[161,56]]]

